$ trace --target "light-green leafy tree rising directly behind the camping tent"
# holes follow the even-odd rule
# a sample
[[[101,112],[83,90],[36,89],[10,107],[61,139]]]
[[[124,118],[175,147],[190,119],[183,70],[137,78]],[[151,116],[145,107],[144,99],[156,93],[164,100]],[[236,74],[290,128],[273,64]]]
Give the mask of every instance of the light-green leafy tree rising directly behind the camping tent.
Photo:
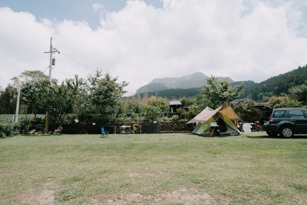
[[[232,87],[226,79],[219,82],[213,75],[207,77],[206,80],[206,84],[202,87],[202,94],[204,99],[209,102],[207,106],[212,109],[218,108],[226,101],[233,101],[244,93],[244,82]]]

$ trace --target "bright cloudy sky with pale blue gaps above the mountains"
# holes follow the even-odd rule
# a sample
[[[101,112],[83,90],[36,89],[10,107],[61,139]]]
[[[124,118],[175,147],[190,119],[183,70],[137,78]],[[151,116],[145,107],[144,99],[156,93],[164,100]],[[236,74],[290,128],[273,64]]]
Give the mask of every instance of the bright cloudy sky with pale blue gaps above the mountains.
[[[128,93],[195,72],[264,81],[307,62],[305,0],[0,0],[0,85],[25,70],[61,83],[98,68]]]

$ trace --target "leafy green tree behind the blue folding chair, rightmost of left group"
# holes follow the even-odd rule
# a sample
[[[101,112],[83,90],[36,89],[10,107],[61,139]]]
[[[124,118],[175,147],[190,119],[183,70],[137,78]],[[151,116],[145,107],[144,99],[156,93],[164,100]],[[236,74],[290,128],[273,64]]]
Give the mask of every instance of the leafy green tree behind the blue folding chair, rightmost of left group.
[[[100,115],[104,115],[116,106],[118,97],[127,93],[124,87],[129,83],[126,81],[116,82],[118,77],[112,78],[110,73],[106,73],[102,77],[101,72],[97,69],[95,75],[89,75],[87,79],[90,84],[88,86],[89,101],[99,110]]]

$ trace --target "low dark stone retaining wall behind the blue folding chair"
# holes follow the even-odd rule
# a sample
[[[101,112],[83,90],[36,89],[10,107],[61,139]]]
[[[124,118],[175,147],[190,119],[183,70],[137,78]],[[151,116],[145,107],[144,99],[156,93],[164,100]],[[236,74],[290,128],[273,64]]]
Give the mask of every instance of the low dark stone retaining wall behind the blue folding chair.
[[[139,125],[160,125],[160,132],[192,132],[195,128],[195,124],[185,124],[186,120],[178,121],[157,121],[153,124],[151,122],[114,122],[114,123],[96,123],[95,125],[87,124],[62,124],[64,134],[99,134],[101,132],[101,126],[116,126],[116,134],[120,133],[120,127],[123,125],[130,125],[132,130],[133,124]],[[58,125],[50,125],[50,131],[54,131]]]

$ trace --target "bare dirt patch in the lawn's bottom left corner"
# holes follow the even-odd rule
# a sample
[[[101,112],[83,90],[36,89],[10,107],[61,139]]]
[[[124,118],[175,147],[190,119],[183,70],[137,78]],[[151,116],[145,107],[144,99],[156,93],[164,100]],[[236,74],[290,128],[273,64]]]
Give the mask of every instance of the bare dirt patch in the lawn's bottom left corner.
[[[55,205],[54,192],[55,190],[46,189],[41,192],[30,191],[16,196],[15,199],[20,199],[22,203]]]

